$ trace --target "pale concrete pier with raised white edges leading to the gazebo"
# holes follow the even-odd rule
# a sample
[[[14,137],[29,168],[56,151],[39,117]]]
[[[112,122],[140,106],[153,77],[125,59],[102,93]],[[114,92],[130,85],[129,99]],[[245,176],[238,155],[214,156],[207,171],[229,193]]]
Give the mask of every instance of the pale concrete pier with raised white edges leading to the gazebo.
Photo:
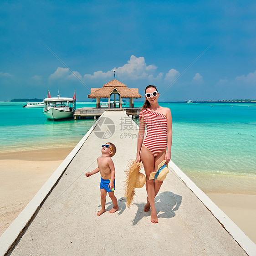
[[[123,111],[104,112],[1,236],[0,255],[255,255],[256,245],[173,162],[155,199],[158,224],[143,211],[145,186],[126,208],[124,170],[135,159],[137,134]],[[119,210],[98,217],[100,174],[85,173],[97,167],[107,142],[117,147]],[[108,195],[106,207],[112,208]]]

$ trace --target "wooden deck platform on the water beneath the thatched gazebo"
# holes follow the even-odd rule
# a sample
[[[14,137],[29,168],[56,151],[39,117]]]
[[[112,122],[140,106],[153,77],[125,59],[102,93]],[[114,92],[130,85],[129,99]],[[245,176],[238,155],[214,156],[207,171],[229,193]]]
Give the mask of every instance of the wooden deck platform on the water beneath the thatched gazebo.
[[[75,119],[82,119],[85,117],[100,117],[105,111],[124,111],[128,116],[133,118],[139,115],[141,108],[77,108],[74,112]]]

